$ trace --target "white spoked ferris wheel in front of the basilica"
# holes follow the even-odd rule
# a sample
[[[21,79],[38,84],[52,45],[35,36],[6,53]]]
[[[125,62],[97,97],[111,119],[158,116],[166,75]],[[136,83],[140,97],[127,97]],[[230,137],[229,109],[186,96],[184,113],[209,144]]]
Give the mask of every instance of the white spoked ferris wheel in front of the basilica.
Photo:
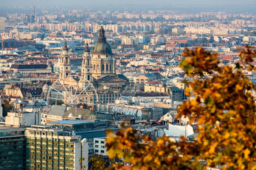
[[[47,103],[58,101],[71,106],[79,103],[93,106],[99,103],[99,96],[93,84],[86,78],[68,75],[54,81],[47,92]]]

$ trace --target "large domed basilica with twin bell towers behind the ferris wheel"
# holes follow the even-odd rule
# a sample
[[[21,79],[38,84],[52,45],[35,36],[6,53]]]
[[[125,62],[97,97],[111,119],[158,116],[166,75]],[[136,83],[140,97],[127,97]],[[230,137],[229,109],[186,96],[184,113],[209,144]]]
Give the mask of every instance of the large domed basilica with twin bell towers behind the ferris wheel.
[[[72,81],[72,83],[76,84],[77,80],[67,80],[67,76],[70,75],[71,66],[66,42],[63,46],[60,61],[60,78],[63,78],[63,81]],[[121,96],[122,91],[129,86],[129,81],[124,75],[115,73],[115,58],[113,58],[111,47],[106,41],[103,27],[99,30],[98,41],[93,46],[91,52],[88,48],[88,43],[86,43],[81,76],[93,84],[101,104],[114,103],[115,99]],[[93,100],[92,97],[90,99],[86,98],[88,95],[81,95],[79,97],[79,101],[87,101],[88,103]]]

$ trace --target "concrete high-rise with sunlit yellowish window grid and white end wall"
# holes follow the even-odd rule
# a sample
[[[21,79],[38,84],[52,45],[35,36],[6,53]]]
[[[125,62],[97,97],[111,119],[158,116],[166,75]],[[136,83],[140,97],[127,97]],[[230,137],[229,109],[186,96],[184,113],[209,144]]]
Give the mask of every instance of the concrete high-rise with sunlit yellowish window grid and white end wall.
[[[81,136],[51,126],[28,127],[25,136],[26,169],[88,169],[88,143]]]

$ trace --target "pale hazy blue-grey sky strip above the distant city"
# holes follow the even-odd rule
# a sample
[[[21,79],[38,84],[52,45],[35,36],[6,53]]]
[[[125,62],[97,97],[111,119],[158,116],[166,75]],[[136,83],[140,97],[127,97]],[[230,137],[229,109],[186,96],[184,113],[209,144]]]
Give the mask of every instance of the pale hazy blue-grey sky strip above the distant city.
[[[207,10],[255,10],[256,0],[0,0],[0,6],[93,6],[95,8],[160,9],[206,8]],[[118,9],[117,9],[118,10]],[[170,9],[172,10],[172,9]]]

